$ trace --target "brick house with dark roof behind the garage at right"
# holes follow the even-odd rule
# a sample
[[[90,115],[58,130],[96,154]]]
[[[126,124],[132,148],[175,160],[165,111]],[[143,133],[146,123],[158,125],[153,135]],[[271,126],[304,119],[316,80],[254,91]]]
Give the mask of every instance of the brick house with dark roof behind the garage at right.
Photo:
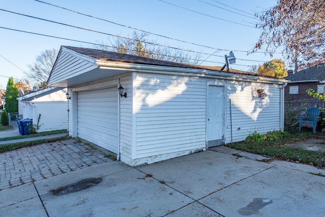
[[[313,99],[306,90],[312,88],[324,93],[325,64],[319,64],[294,74],[292,70],[288,70],[288,76],[284,78],[288,80],[284,88],[285,101]]]

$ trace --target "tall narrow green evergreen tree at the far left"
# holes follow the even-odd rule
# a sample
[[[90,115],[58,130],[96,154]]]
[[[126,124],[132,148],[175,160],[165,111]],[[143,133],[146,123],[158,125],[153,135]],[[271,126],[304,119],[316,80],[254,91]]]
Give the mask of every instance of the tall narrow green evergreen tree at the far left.
[[[6,111],[8,113],[18,112],[18,101],[17,97],[19,97],[17,85],[14,83],[14,79],[10,77],[7,83],[6,89]]]

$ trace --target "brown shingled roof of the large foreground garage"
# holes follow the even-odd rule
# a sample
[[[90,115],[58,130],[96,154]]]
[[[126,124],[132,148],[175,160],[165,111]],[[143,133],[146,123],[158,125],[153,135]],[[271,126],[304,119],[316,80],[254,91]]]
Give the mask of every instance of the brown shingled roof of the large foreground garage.
[[[116,61],[118,63],[132,63],[132,64],[143,64],[143,65],[154,65],[154,66],[166,66],[166,67],[180,67],[180,68],[188,68],[188,69],[205,69],[211,71],[220,71],[222,67],[216,66],[199,66],[199,65],[190,65],[190,64],[182,64],[182,63],[174,63],[171,61],[158,60],[152,58],[146,58],[142,56],[129,55],[124,53],[117,53],[112,51],[105,50],[96,50],[91,48],[80,48],[80,47],[70,47],[70,46],[62,46],[69,50],[75,51],[77,53],[81,53],[96,59],[101,59],[103,61]],[[242,75],[251,75],[251,76],[259,76],[259,77],[270,77],[270,76],[261,76],[256,75],[255,73],[240,71],[230,69],[228,73],[234,74],[242,74]],[[223,71],[225,72],[225,71]],[[271,77],[273,78],[273,77]]]

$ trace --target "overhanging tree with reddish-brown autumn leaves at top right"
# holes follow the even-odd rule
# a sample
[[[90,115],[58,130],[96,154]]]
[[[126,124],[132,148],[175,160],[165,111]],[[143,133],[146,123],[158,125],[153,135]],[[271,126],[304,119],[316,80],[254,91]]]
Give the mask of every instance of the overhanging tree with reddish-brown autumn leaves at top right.
[[[272,56],[279,48],[300,69],[325,63],[325,1],[278,0],[256,17],[262,33],[253,52],[264,49]]]

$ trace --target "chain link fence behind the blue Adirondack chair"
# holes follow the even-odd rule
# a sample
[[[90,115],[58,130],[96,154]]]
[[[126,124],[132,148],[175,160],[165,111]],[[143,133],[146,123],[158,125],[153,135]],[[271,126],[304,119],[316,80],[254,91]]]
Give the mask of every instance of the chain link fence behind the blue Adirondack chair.
[[[324,101],[309,99],[284,102],[284,125],[296,125],[299,117],[305,115],[310,107],[324,108]],[[325,116],[325,113],[321,112],[321,116]]]

